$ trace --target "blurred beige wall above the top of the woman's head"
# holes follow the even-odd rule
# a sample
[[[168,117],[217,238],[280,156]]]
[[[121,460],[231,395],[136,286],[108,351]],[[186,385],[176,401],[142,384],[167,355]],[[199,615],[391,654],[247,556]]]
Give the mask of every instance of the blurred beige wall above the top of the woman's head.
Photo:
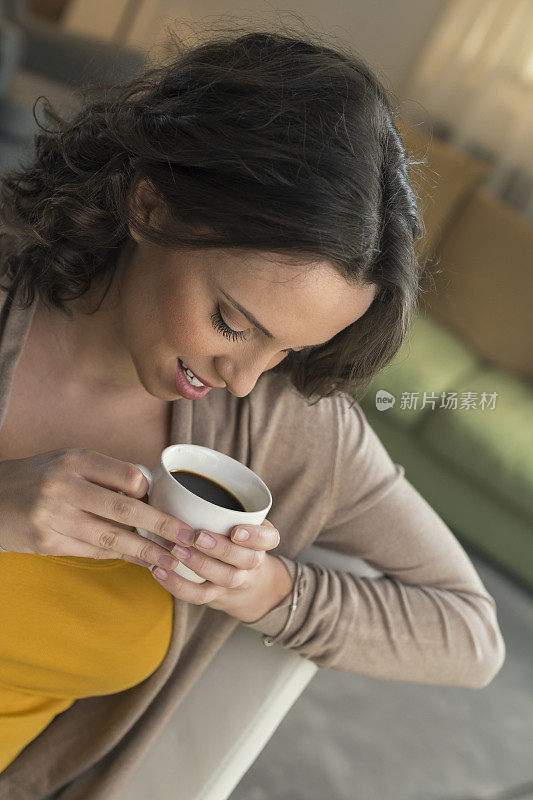
[[[187,23],[218,25],[228,21],[257,22],[263,28],[277,18],[298,25],[296,12],[317,32],[347,42],[390,88],[401,96],[408,71],[424,39],[448,0],[291,0],[279,7],[272,0],[72,0],[64,17],[70,30],[84,30],[106,39],[150,47],[164,37],[165,26]],[[120,20],[117,13],[121,10]],[[298,28],[297,28],[298,29]]]

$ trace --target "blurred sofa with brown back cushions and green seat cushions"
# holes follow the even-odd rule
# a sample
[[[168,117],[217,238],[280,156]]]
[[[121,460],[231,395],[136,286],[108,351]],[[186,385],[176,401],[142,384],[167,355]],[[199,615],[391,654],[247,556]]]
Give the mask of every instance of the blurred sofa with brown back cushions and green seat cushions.
[[[361,402],[395,461],[463,543],[533,586],[533,229],[483,185],[488,166],[412,129],[429,256],[420,314]],[[376,392],[396,398],[378,410]],[[439,405],[442,394],[477,404]],[[401,399],[419,393],[416,408]],[[423,404],[424,392],[439,400]],[[495,393],[483,407],[482,393]]]

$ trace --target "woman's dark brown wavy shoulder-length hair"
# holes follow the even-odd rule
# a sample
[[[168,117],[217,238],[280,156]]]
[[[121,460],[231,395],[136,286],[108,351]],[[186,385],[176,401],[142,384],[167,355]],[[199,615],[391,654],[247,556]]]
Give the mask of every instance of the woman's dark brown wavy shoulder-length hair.
[[[2,178],[2,288],[20,285],[22,308],[38,293],[68,315],[66,302],[105,273],[107,292],[129,225],[169,248],[327,260],[379,291],[359,320],[272,371],[308,400],[359,399],[417,310],[424,233],[409,183],[422,162],[410,161],[370,67],[315,34],[241,28],[187,47],[170,31],[166,57],[95,89],[69,119],[47,103],[53,124],[39,124],[31,163]],[[161,229],[129,202],[139,177],[164,201]]]

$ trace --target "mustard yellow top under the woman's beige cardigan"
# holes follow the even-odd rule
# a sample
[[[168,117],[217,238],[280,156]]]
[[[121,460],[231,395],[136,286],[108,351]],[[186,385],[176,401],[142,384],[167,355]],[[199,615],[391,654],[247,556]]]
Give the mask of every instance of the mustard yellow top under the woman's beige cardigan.
[[[154,672],[174,598],[122,559],[0,554],[0,771],[74,700]]]

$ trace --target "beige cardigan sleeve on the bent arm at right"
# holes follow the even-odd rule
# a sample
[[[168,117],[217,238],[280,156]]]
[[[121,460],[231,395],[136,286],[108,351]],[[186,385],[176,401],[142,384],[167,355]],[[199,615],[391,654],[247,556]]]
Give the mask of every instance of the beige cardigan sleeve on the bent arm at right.
[[[314,544],[363,559],[383,574],[370,578],[302,564],[298,607],[277,644],[321,668],[484,688],[506,655],[494,598],[454,534],[349,399],[338,395],[334,404],[332,503]],[[294,580],[296,562],[276,557]],[[245,626],[276,635],[291,596]]]

